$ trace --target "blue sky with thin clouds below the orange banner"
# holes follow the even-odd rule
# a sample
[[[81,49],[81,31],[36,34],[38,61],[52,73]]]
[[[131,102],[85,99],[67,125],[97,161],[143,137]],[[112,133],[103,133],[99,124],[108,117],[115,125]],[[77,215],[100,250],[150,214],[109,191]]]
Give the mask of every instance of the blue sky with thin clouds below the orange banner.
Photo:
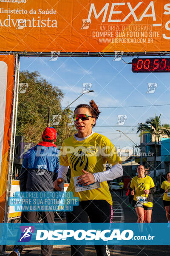
[[[80,95],[82,83],[91,83],[95,92],[83,95],[71,107],[80,103],[87,104],[94,99],[102,111],[94,131],[107,136],[114,145],[119,145],[120,148],[133,145],[125,135],[116,130],[123,131],[138,144],[140,138],[136,134],[136,125],[155,114],[161,113],[161,122],[170,124],[170,106],[127,108],[170,104],[169,73],[133,73],[130,64],[113,61],[113,57],[59,57],[57,61],[49,59],[21,57],[20,70],[37,70],[49,83],[59,87],[65,93],[62,107]],[[125,62],[132,59],[133,57],[123,57]],[[147,93],[148,83],[157,83],[154,93]],[[127,116],[124,125],[116,125],[118,115]]]

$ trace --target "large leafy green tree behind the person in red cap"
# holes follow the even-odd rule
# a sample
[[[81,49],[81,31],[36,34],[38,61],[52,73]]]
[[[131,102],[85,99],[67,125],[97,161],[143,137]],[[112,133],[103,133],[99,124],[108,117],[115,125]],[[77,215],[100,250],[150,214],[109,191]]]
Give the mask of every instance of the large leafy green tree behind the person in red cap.
[[[37,71],[20,72],[20,83],[27,83],[28,88],[25,87],[26,93],[19,93],[16,135],[24,136],[25,142],[38,143],[42,131],[47,127],[48,106],[51,106],[52,119],[52,115],[61,112],[60,102],[64,93],[58,87],[49,84]],[[62,112],[59,125],[50,123],[57,130],[56,145],[62,145],[65,138],[75,133],[72,116],[73,112],[68,108]]]

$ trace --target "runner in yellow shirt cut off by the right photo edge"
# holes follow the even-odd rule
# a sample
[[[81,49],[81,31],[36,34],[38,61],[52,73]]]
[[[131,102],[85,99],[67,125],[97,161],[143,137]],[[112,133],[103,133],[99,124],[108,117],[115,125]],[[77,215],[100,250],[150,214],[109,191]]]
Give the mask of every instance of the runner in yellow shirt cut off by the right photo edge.
[[[166,210],[166,216],[168,221],[168,227],[170,227],[170,172],[167,172],[167,180],[164,180],[161,184],[160,192],[164,193],[163,204]]]

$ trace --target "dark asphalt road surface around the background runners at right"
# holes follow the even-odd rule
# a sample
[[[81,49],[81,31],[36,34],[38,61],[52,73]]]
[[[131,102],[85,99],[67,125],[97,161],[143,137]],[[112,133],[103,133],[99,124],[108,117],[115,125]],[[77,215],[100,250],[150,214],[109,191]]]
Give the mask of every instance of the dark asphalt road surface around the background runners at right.
[[[112,192],[113,206],[114,202],[116,207],[113,207],[113,222],[121,221],[130,223],[137,221],[137,215],[135,209],[129,207],[128,197],[124,195],[119,197],[119,192]],[[119,203],[119,204],[118,204]],[[120,209],[122,207],[122,216],[117,217],[118,211],[114,209]],[[114,214],[115,212],[115,214]],[[166,212],[163,206],[162,198],[158,195],[154,197],[153,213],[151,222],[167,222]],[[114,250],[111,250],[111,255],[115,256],[168,256],[170,255],[170,245],[115,245]]]

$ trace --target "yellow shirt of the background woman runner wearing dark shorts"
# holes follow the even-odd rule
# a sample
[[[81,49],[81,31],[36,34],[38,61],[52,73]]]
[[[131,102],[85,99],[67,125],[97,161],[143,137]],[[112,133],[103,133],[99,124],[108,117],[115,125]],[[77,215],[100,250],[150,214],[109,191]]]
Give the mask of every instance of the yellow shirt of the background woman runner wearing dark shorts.
[[[144,194],[145,189],[151,189],[155,186],[153,179],[150,176],[144,177],[144,178],[138,178],[138,176],[135,176],[132,178],[132,181],[130,183],[130,188],[135,190],[135,194],[133,199],[137,201],[137,196],[148,198],[149,195]],[[147,207],[153,207],[153,196],[150,196],[150,201],[143,203],[144,206]]]

